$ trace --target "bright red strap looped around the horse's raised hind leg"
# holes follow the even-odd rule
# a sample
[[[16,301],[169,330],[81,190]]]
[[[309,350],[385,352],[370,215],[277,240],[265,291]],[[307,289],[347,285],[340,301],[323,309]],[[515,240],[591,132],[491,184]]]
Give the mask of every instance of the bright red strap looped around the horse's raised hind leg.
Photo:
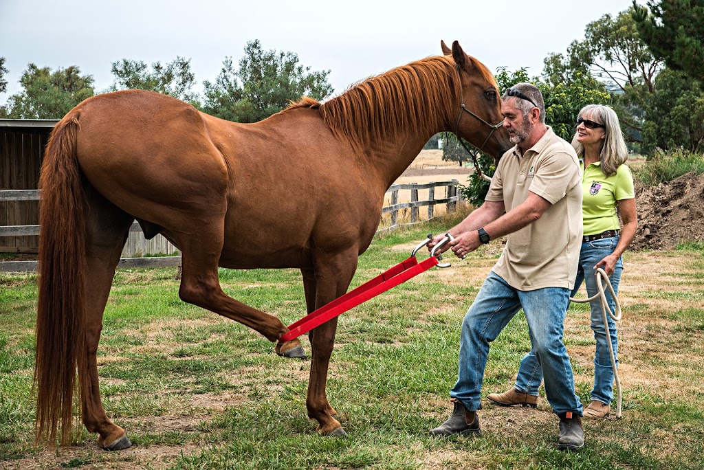
[[[408,279],[427,271],[437,264],[438,260],[434,256],[420,263],[417,262],[415,256],[411,256],[408,260],[398,263],[398,265],[379,274],[379,276],[374,279],[365,282],[358,288],[349,291],[344,296],[333,300],[327,305],[323,305],[318,310],[315,310],[315,312],[310,312],[310,314],[301,318],[298,322],[290,324],[289,331],[282,334],[279,341],[285,342],[298,338],[298,336],[308,333],[308,331],[314,329],[316,326],[322,325],[329,319],[333,319],[341,313],[351,310],[361,303],[365,303],[370,298],[374,298],[380,293],[384,293],[390,288],[398,286],[398,284],[403,284],[408,281]]]

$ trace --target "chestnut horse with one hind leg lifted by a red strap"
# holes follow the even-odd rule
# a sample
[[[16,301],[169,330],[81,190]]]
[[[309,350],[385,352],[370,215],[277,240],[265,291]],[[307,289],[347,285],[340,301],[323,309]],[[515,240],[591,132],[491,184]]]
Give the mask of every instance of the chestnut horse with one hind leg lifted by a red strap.
[[[458,42],[444,56],[372,77],[325,103],[303,98],[255,124],[213,118],[150,91],[93,96],[56,125],[39,185],[37,441],[70,442],[72,405],[108,450],[129,447],[101,404],[96,350],[130,224],[182,253],[179,296],[258,331],[275,316],[230,298],[218,266],[298,268],[308,312],[346,293],[379,226],[386,189],[427,140],[449,131],[495,158],[511,146],[491,72]],[[489,123],[499,123],[497,125]],[[343,434],[325,394],[337,319],[318,326],[306,407]],[[77,371],[77,380],[75,378]],[[74,390],[76,389],[76,390]]]

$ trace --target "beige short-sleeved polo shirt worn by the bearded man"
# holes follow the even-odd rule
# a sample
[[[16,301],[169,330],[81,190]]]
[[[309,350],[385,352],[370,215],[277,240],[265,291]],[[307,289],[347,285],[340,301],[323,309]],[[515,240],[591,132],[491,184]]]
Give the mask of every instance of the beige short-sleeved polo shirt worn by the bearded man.
[[[551,203],[539,220],[509,234],[494,272],[520,291],[574,288],[582,248],[582,178],[574,148],[551,127],[524,155],[504,153],[486,201],[503,201],[506,212],[528,191]]]

